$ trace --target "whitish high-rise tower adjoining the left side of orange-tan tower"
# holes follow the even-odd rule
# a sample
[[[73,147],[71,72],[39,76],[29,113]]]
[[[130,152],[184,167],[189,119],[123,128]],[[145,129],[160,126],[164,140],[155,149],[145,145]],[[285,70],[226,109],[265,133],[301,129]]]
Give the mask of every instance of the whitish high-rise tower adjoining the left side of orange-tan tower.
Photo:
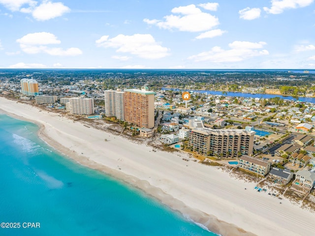
[[[121,89],[105,90],[105,115],[116,117],[120,120],[124,118],[124,92]]]

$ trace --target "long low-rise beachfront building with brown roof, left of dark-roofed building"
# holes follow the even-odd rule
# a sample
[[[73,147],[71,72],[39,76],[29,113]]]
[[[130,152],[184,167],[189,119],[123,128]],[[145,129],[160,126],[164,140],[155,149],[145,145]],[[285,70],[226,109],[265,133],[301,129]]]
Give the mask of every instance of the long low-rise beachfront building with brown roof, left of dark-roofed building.
[[[262,177],[265,177],[269,173],[270,166],[271,164],[269,162],[248,155],[241,156],[238,162],[239,168]]]

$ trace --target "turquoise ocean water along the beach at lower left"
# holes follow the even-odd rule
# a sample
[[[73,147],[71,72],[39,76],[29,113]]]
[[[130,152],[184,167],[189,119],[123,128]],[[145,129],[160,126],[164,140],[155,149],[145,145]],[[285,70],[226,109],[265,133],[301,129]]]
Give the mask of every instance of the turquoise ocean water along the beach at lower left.
[[[37,130],[0,114],[0,222],[20,223],[0,228],[1,236],[215,236],[141,191],[59,155]]]

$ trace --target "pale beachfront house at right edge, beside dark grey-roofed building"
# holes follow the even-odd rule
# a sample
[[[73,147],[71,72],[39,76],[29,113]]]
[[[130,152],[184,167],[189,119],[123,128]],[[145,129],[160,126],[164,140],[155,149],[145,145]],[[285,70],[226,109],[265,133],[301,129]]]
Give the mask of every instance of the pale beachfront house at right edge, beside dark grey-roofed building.
[[[296,172],[293,186],[295,189],[311,192],[315,186],[315,173],[307,170]]]

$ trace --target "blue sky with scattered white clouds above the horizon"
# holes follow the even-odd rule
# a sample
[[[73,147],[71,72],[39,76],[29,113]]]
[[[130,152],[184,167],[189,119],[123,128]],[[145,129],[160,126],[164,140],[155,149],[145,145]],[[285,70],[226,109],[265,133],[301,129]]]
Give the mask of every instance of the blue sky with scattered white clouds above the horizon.
[[[0,68],[315,69],[315,0],[0,0]]]

